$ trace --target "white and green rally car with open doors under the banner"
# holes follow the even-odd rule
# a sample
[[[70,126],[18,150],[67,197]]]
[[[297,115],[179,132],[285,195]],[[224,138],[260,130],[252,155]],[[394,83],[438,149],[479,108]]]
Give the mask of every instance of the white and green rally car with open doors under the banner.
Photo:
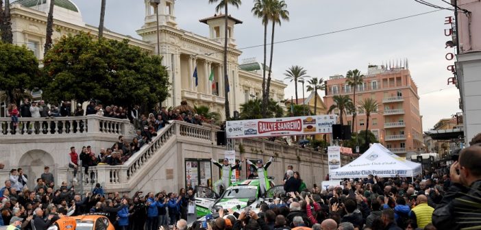
[[[269,179],[270,189],[259,196],[259,180],[247,179],[232,183],[221,196],[210,188],[197,186],[195,197],[195,211],[197,217],[203,217],[217,212],[220,208],[234,211],[249,206],[252,210],[259,209],[260,203],[267,202],[279,194],[285,194],[284,186],[275,186]]]

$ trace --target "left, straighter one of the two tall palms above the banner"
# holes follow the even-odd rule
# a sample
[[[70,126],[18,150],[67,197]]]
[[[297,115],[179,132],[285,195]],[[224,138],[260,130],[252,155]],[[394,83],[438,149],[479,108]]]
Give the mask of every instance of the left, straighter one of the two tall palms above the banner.
[[[262,25],[264,26],[264,62],[262,62],[262,98],[265,97],[266,92],[266,60],[267,60],[267,25],[269,24],[269,16],[273,10],[273,0],[255,0],[254,7],[251,12],[254,16],[262,19]],[[262,103],[264,101],[262,100]],[[265,110],[262,110],[262,116],[265,116]]]

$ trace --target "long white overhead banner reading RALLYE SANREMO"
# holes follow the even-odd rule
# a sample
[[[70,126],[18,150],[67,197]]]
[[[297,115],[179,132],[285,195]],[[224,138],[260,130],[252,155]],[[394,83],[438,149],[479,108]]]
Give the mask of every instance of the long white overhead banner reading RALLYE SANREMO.
[[[293,116],[257,120],[227,121],[227,138],[313,135],[332,133],[336,115]]]

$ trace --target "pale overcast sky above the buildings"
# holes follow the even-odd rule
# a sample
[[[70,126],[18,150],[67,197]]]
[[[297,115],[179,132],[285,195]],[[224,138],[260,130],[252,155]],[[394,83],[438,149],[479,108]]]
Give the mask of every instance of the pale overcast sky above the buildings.
[[[73,1],[82,12],[84,22],[97,26],[100,1]],[[290,21],[276,27],[276,42],[436,10],[414,0],[285,1]],[[449,7],[441,0],[429,2]],[[244,58],[256,57],[262,61],[263,57],[262,47],[242,49],[263,44],[263,27],[260,20],[251,14],[253,5],[251,0],[242,1],[239,9],[231,8],[229,12],[243,21],[243,24],[234,27],[236,43],[243,51],[240,63]],[[214,5],[210,5],[208,0],[175,1],[178,27],[201,36],[208,36],[208,25],[199,23],[199,19],[213,16],[214,13]],[[145,8],[141,0],[107,0],[105,27],[140,38],[136,30],[143,25],[144,16]],[[441,118],[449,118],[460,112],[459,92],[453,85],[447,85],[447,78],[452,77],[452,73],[447,71],[446,66],[454,62],[445,60],[445,54],[449,52],[445,49],[448,38],[444,35],[444,29],[449,28],[444,25],[446,16],[454,14],[449,10],[441,10],[380,25],[275,44],[273,77],[283,80],[287,68],[299,65],[311,77],[328,79],[336,74],[345,75],[355,68],[367,73],[369,64],[380,65],[389,60],[393,62],[407,58],[410,74],[421,97],[419,109],[423,116],[423,130],[428,131]],[[284,93],[290,99],[295,94],[295,88],[288,81],[284,83],[288,84]],[[301,90],[299,86],[299,98]]]

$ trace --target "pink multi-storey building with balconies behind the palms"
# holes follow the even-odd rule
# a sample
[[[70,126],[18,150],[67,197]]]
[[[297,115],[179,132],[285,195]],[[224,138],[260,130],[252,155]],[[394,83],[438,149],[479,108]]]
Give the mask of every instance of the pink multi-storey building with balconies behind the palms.
[[[363,79],[362,86],[356,88],[356,106],[359,107],[359,102],[368,97],[379,104],[378,112],[369,118],[369,130],[380,143],[397,155],[404,157],[408,153],[423,151],[419,95],[407,67],[369,66]],[[324,97],[326,107],[334,103],[334,95],[349,95],[352,99],[353,90],[347,86],[343,75],[329,77]],[[332,113],[339,114],[339,111]],[[348,113],[344,120],[351,125],[352,114]],[[358,112],[354,131],[365,130],[366,122],[366,115]]]

